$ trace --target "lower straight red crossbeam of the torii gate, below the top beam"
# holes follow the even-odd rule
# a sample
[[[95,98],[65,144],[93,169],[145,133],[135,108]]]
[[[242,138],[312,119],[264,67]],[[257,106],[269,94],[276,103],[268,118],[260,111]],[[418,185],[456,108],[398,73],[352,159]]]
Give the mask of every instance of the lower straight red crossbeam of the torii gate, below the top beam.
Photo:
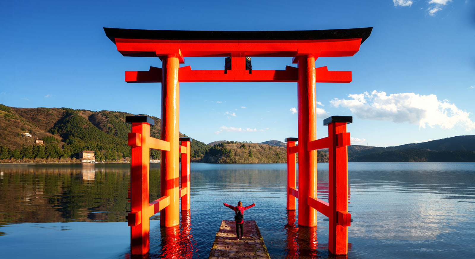
[[[297,82],[298,68],[285,70],[191,70],[190,66],[180,67],[180,82]],[[351,71],[328,71],[327,67],[315,68],[317,83],[350,83]],[[125,71],[127,83],[160,83],[161,68],[150,67],[149,71]]]

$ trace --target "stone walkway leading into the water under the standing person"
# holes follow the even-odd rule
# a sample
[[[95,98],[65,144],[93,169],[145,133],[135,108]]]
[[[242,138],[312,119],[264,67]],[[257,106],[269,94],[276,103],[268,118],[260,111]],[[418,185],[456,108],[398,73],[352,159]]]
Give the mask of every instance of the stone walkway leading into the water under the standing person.
[[[234,221],[221,221],[209,259],[270,259],[256,221],[244,221],[244,237],[236,240]]]

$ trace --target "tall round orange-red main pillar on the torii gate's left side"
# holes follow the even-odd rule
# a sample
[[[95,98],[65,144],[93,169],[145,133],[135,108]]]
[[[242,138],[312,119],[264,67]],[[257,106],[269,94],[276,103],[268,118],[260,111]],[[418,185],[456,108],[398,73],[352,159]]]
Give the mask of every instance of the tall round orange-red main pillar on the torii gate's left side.
[[[170,205],[160,211],[160,225],[180,224],[179,190],[179,133],[180,83],[178,81],[179,54],[161,57],[161,139],[170,143],[170,151],[161,152],[160,196],[169,196]]]

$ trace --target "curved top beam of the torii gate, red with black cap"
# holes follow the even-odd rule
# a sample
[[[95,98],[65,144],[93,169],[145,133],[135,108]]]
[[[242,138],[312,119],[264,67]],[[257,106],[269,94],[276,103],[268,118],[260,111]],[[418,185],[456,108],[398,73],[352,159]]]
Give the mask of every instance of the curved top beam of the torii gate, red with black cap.
[[[372,28],[292,31],[195,31],[104,28],[129,57],[353,56]]]

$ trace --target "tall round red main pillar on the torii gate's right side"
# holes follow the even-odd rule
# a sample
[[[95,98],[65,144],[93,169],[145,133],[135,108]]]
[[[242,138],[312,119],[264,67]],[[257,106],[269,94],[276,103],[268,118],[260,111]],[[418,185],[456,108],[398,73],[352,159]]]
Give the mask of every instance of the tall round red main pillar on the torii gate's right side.
[[[308,196],[316,196],[317,151],[308,150],[308,143],[316,140],[315,57],[297,56],[298,64],[298,224],[317,225],[317,211],[308,205]]]

